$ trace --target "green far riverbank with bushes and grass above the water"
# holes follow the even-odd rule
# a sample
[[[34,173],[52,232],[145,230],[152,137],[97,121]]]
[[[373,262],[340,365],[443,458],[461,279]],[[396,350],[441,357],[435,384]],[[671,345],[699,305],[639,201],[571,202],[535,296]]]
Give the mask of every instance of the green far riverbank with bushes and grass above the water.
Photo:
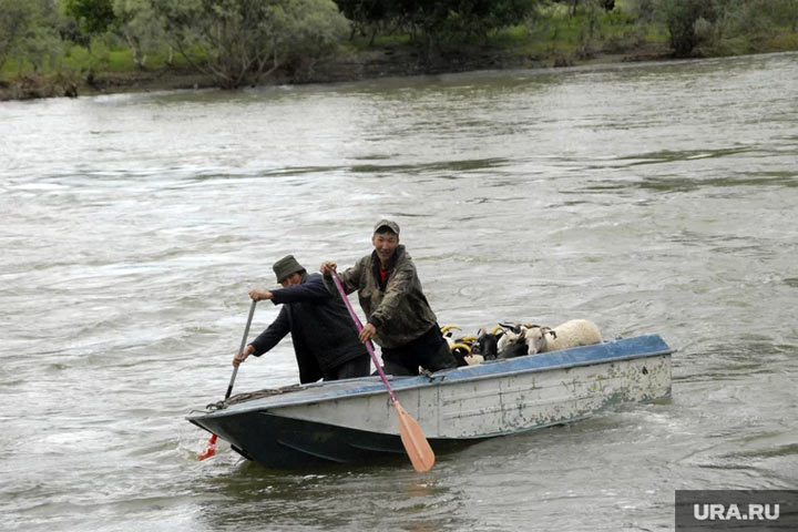
[[[180,31],[164,25],[165,12],[140,6],[127,13],[143,18],[137,25],[133,24],[135,28],[130,25],[127,17],[124,20],[129,20],[129,25],[94,33],[81,30],[69,37],[64,28],[78,23],[76,19],[70,19],[76,17],[74,13],[61,13],[61,18],[50,13],[53,17],[48,18],[42,11],[40,18],[18,20],[27,24],[28,33],[9,41],[13,47],[0,45],[0,100],[330,83],[798,50],[798,6],[781,2],[759,9],[746,2],[717,3],[707,8],[699,0],[666,0],[656,4],[642,0],[574,1],[569,2],[570,6],[540,2],[534,9],[502,19],[501,23],[490,13],[482,13],[487,17],[482,20],[463,19],[463,13],[450,12],[444,21],[438,20],[434,13],[428,13],[431,19],[417,13],[420,19],[411,19],[409,25],[402,25],[402,21],[407,22],[403,14],[390,10],[380,18],[376,13],[366,17],[344,9],[349,17],[345,19],[331,7],[327,18],[300,17],[299,27],[307,27],[311,31],[308,34],[319,32],[314,38],[314,42],[318,41],[316,44],[298,38],[286,41],[279,52],[279,47],[272,50],[263,44],[279,38],[282,30],[275,28],[269,30],[273,33],[262,35],[267,38],[263,42],[253,41],[247,34],[250,45],[243,49],[226,41],[217,42],[213,32],[186,40],[180,37],[181,31],[194,34],[192,32],[200,29],[191,23]],[[686,9],[686,6],[693,8]],[[202,12],[195,16],[203,19]],[[502,12],[499,9],[493,14]],[[208,20],[213,21],[217,14],[207,12],[203,20],[213,27]],[[372,20],[372,16],[377,19]],[[144,22],[154,24],[155,31],[145,40],[147,45],[134,39]],[[232,34],[245,34],[244,29],[233,28],[235,25],[228,29]],[[286,32],[296,33],[296,28]],[[202,34],[200,31],[198,35]],[[262,57],[267,50],[269,55]],[[257,74],[262,71],[258,69],[268,69],[278,55],[279,68],[269,75]],[[250,61],[253,58],[258,59]],[[200,73],[192,65],[207,72]]]

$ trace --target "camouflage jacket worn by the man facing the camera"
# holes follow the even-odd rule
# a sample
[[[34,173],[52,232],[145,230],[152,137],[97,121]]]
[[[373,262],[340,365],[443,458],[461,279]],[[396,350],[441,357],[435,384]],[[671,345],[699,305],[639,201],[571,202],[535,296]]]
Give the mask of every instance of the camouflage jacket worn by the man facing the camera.
[[[377,328],[375,341],[387,348],[401,347],[437,326],[438,318],[421,289],[416,265],[405,246],[397,246],[388,278],[381,282],[377,252],[358,260],[340,274],[344,290],[358,290],[360,307]],[[337,293],[332,278],[327,289]]]

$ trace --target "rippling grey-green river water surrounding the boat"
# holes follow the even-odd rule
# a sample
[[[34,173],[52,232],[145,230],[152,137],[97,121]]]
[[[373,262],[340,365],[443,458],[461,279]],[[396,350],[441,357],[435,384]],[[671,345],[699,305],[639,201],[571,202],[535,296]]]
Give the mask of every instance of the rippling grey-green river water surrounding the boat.
[[[2,529],[673,530],[676,489],[796,489],[797,203],[795,53],[0,103]],[[657,332],[672,399],[423,474],[196,461],[247,290],[382,216],[441,325]],[[286,340],[236,390],[296,381]]]

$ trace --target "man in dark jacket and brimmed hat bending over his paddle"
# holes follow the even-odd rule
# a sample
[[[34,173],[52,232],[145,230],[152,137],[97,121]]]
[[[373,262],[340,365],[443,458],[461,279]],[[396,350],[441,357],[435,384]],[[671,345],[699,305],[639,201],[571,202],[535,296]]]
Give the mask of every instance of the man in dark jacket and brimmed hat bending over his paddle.
[[[250,290],[249,297],[269,299],[283,308],[272,325],[233,358],[233,365],[238,366],[249,355],[259,357],[290,332],[300,382],[369,375],[371,359],[358,340],[349,311],[340,297],[327,290],[321,276],[308,275],[293,255],[277,260],[272,269],[283,288]]]

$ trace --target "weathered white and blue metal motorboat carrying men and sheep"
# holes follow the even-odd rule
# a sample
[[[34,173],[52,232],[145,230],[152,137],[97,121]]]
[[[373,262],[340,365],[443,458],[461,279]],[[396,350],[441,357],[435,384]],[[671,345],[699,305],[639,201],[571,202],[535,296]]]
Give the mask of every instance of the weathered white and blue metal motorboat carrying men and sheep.
[[[658,335],[645,335],[389,380],[438,452],[667,398],[672,352]],[[378,377],[236,395],[186,419],[270,469],[406,454]]]

